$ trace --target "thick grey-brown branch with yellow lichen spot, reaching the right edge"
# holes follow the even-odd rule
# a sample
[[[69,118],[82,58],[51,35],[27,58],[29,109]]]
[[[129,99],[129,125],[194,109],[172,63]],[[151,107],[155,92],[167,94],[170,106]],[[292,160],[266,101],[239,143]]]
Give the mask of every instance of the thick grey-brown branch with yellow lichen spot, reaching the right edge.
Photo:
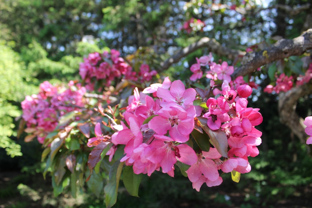
[[[265,64],[290,56],[300,56],[311,49],[312,29],[309,29],[294,39],[281,39],[266,50],[247,53],[232,77],[247,75]]]

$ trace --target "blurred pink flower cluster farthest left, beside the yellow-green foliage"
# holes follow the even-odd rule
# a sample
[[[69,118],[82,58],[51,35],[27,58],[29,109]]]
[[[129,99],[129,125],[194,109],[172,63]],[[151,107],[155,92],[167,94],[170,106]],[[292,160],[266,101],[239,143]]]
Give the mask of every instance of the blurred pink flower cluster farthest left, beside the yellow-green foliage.
[[[74,81],[70,81],[68,87],[56,87],[45,81],[38,94],[27,95],[22,101],[22,118],[26,121],[27,132],[33,133],[33,138],[37,136],[40,143],[55,129],[61,116],[84,107],[86,89]]]

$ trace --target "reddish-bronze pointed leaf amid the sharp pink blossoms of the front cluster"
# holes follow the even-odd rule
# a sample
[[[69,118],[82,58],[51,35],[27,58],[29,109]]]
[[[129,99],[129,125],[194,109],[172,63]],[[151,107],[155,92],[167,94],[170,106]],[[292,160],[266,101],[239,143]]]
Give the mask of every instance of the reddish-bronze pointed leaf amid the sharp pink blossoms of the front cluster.
[[[215,148],[217,148],[218,152],[223,156],[227,157],[227,135],[224,131],[221,129],[218,129],[216,131],[212,131],[208,125],[207,125],[207,119],[199,117],[198,118],[202,129],[208,134],[209,138],[211,139],[211,142]]]

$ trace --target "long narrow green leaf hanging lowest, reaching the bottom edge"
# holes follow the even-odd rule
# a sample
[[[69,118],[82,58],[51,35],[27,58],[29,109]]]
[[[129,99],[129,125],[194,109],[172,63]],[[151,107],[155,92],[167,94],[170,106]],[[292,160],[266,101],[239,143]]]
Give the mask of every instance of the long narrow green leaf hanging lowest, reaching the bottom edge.
[[[124,162],[116,160],[110,168],[109,181],[104,188],[106,208],[112,207],[117,201],[119,179]]]

